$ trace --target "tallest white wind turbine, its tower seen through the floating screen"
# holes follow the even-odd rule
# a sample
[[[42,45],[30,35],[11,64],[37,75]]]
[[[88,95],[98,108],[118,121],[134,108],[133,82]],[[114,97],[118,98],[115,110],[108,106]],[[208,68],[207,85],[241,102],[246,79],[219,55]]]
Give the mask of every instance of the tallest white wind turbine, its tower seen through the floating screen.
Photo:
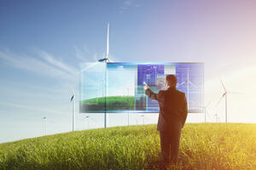
[[[110,62],[110,59],[108,58],[108,54],[109,54],[109,24],[108,24],[108,35],[107,35],[107,48],[106,48],[106,56],[105,58],[102,59],[98,59],[99,62],[105,62],[106,66],[105,66],[105,112],[104,112],[104,127],[107,127],[107,98],[106,98],[106,88],[107,88],[107,63]]]

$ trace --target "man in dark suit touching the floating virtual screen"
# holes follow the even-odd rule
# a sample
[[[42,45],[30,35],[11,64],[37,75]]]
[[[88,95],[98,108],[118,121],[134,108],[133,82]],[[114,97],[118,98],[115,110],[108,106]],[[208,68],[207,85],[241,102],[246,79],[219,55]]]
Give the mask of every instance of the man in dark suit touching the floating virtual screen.
[[[160,105],[157,130],[160,131],[161,155],[165,164],[169,161],[170,150],[171,161],[177,161],[181,129],[188,116],[186,96],[176,89],[177,77],[166,76],[166,85],[167,90],[160,90],[158,94],[154,94],[148,84],[144,86],[148,97]]]

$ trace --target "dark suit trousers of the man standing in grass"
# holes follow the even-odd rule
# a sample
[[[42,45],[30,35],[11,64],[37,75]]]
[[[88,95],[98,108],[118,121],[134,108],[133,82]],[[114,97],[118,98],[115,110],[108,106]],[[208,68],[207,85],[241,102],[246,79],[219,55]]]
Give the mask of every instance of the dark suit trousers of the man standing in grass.
[[[161,145],[161,155],[164,162],[169,161],[170,151],[171,151],[171,161],[177,161],[177,153],[179,149],[179,142],[181,136],[180,126],[172,127],[167,131],[160,131],[160,145]]]

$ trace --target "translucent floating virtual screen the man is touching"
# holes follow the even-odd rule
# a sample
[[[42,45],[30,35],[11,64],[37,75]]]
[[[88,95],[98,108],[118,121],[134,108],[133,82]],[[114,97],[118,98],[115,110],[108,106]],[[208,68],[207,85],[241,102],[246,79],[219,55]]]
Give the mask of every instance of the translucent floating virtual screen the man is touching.
[[[80,113],[158,113],[159,104],[145,95],[145,83],[166,90],[166,75],[176,75],[190,113],[204,106],[203,63],[84,63],[80,71]]]

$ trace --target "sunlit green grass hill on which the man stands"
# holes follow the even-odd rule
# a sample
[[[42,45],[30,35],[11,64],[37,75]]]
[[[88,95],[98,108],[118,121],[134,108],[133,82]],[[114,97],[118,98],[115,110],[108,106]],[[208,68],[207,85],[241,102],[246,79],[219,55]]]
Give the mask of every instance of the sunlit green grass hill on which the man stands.
[[[110,127],[0,144],[0,169],[159,169],[156,125]],[[256,169],[256,124],[183,128],[170,169]]]

